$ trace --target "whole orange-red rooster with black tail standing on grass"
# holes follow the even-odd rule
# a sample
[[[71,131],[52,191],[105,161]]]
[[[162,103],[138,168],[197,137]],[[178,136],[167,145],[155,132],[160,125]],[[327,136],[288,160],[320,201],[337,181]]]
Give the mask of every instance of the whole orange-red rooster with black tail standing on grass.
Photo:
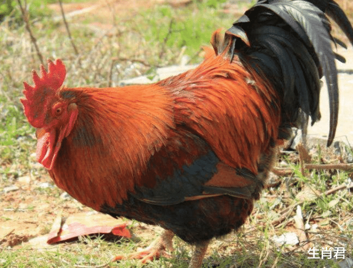
[[[24,83],[24,112],[37,128],[37,160],[55,184],[113,217],[158,224],[165,232],[143,261],[167,255],[178,235],[207,245],[238,229],[253,209],[276,146],[299,112],[320,118],[326,77],[331,144],[338,87],[330,16],[353,43],[353,29],[332,0],[262,0],[225,33],[217,31],[194,70],[154,84],[118,88],[63,85],[61,60]],[[120,259],[117,257],[116,259]]]

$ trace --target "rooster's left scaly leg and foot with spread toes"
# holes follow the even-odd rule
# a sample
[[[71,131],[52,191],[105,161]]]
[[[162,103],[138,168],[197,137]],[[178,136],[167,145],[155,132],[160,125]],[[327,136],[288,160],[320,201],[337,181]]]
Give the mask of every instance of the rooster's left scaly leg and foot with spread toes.
[[[112,261],[122,259],[141,259],[142,263],[152,261],[153,259],[159,259],[160,256],[170,258],[171,255],[166,250],[173,251],[172,238],[174,233],[169,230],[165,230],[160,237],[153,241],[148,247],[142,251],[129,254],[128,256],[119,255],[112,259]]]

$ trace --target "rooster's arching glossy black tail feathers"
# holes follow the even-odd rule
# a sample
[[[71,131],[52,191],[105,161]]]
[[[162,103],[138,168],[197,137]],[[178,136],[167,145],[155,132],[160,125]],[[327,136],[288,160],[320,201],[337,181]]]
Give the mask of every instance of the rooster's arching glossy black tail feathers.
[[[338,84],[331,42],[346,47],[330,34],[331,17],[353,44],[353,28],[332,0],[261,0],[225,33],[233,41],[229,53],[238,54],[277,88],[282,102],[282,127],[295,125],[299,109],[320,119],[320,81],[325,76],[330,106],[327,145],[335,136],[338,119]],[[285,132],[285,130],[283,129]]]

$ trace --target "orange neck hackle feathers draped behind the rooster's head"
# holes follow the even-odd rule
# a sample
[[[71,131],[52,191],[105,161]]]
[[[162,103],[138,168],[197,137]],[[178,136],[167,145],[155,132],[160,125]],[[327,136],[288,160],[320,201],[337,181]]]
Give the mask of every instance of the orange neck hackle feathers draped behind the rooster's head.
[[[170,93],[156,85],[63,91],[76,94],[79,115],[50,172],[55,183],[96,210],[122,203],[174,128]]]

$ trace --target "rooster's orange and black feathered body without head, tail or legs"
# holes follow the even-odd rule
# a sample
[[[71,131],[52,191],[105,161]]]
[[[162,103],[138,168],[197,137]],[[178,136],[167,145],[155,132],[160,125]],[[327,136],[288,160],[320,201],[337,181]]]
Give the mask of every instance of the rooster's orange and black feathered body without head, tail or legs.
[[[75,125],[55,161],[38,160],[81,203],[189,243],[237,229],[259,197],[279,126],[273,88],[241,66],[218,55],[154,85],[63,87],[57,101],[76,106]]]

